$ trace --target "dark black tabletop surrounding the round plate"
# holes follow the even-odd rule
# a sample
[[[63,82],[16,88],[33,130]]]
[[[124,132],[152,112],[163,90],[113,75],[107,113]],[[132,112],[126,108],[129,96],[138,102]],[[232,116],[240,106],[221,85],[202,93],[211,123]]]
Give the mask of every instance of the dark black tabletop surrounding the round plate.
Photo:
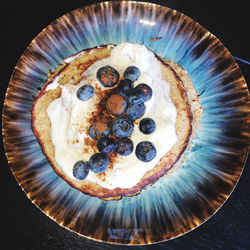
[[[56,18],[100,1],[5,1],[1,5],[1,106],[11,73],[31,40]],[[151,1],[176,9],[199,22],[233,56],[250,61],[248,1]],[[57,5],[51,5],[51,4]],[[238,61],[246,81],[250,65]],[[2,110],[2,107],[1,107]],[[127,249],[82,238],[57,225],[25,196],[14,179],[1,142],[0,246],[1,249]],[[177,239],[130,249],[250,249],[249,160],[234,192],[206,223]]]

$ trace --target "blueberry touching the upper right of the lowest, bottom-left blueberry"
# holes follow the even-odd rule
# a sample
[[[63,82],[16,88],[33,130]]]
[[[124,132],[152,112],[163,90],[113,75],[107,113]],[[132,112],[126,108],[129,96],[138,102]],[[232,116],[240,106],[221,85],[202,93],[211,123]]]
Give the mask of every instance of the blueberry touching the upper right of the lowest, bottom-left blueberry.
[[[93,154],[89,159],[89,169],[95,173],[103,173],[109,166],[109,158],[102,153]]]

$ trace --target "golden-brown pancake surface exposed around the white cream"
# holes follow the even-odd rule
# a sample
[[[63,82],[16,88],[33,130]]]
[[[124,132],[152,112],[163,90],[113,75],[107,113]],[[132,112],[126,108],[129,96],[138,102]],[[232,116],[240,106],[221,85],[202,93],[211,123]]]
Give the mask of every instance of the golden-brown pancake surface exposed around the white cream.
[[[54,73],[48,73],[48,80],[43,85],[41,91],[35,98],[32,106],[32,130],[41,146],[42,152],[48,159],[54,171],[64,179],[69,185],[80,190],[84,194],[95,196],[105,200],[120,199],[123,196],[134,196],[139,194],[143,189],[152,185],[160,177],[171,173],[180,166],[184,158],[184,152],[188,149],[191,139],[199,126],[202,115],[202,106],[199,96],[188,77],[188,74],[179,65],[169,60],[155,55],[160,65],[162,79],[170,84],[170,98],[176,109],[175,133],[177,140],[171,148],[159,159],[159,161],[148,171],[146,171],[140,180],[131,187],[113,187],[100,185],[88,179],[77,180],[66,174],[65,169],[58,163],[55,157],[55,146],[51,136],[51,119],[48,115],[49,105],[62,96],[62,86],[78,85],[85,80],[84,73],[96,62],[111,56],[113,45],[95,47],[83,50],[76,55],[66,58]],[[105,65],[103,65],[105,66]],[[104,114],[101,119],[113,119],[105,115],[105,103],[111,94],[117,93],[117,86],[107,90],[95,89],[98,95],[99,103],[95,106],[89,124],[95,120],[96,116]],[[99,105],[103,104],[103,105]],[[143,118],[143,117],[142,117]],[[134,121],[138,126],[138,121]],[[88,139],[88,140],[87,140]],[[89,150],[94,153],[98,152],[96,141],[91,138],[85,138]],[[167,138],[166,138],[167,140]],[[91,151],[91,152],[92,152]],[[89,153],[86,151],[86,153]],[[134,152],[133,152],[134,153]],[[115,167],[116,160],[119,157],[115,153],[109,154],[110,164],[108,169],[98,174],[100,181],[105,182],[107,177],[112,179],[112,170]]]

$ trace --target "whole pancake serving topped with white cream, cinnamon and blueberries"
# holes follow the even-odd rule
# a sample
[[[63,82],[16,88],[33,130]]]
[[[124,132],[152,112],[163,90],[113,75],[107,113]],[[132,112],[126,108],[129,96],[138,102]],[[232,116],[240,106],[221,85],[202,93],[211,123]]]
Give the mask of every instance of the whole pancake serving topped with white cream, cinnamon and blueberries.
[[[54,171],[84,194],[113,200],[179,167],[202,106],[179,65],[144,45],[121,43],[64,59],[31,113]]]

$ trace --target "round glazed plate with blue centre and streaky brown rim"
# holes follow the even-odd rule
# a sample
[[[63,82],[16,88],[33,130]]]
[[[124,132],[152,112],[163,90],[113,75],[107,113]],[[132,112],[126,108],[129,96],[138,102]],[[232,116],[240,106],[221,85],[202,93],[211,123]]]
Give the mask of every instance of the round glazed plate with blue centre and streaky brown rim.
[[[31,130],[33,98],[64,58],[86,48],[145,44],[187,70],[204,108],[181,168],[135,197],[103,201],[58,177]],[[3,110],[6,156],[27,197],[59,225],[93,240],[141,245],[183,235],[209,219],[242,173],[249,146],[249,93],[230,52],[191,18],[156,4],[112,1],[74,10],[30,43]]]

